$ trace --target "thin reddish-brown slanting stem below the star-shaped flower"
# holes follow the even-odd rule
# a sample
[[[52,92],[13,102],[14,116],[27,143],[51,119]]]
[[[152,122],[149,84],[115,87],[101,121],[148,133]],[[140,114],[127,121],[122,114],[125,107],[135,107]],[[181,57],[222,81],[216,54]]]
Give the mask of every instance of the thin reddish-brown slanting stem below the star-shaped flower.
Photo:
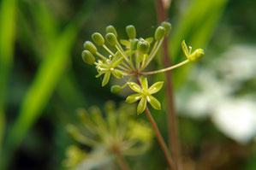
[[[155,120],[152,117],[152,114],[150,113],[150,111],[149,111],[149,109],[147,107],[145,109],[145,112],[146,112],[146,116],[147,116],[148,120],[152,124],[154,132],[156,133],[156,136],[158,138],[158,142],[159,142],[161,148],[164,151],[164,155],[166,157],[166,161],[168,163],[168,166],[170,167],[170,169],[175,169],[174,163],[173,163],[173,161],[171,159],[171,156],[170,156],[170,151],[168,150],[168,148],[167,148],[167,146],[166,146],[166,144],[164,142],[164,138],[162,137],[161,133],[159,132],[158,126],[157,126]]]

